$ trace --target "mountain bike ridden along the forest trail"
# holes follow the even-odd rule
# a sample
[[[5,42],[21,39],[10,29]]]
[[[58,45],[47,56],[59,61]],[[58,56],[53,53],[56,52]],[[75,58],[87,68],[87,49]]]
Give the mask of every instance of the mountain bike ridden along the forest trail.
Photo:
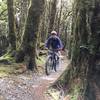
[[[45,63],[46,75],[50,75],[51,71],[57,71],[57,65],[59,65],[59,56],[55,50],[48,52],[47,61]]]

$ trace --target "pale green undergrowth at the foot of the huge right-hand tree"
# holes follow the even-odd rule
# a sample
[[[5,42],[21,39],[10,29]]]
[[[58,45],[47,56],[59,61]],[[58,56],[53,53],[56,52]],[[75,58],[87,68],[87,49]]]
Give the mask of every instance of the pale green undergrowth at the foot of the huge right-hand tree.
[[[68,87],[70,88],[67,92],[62,89],[50,87],[47,93],[52,97],[52,100],[82,100],[83,86],[80,79],[75,79],[71,86]]]

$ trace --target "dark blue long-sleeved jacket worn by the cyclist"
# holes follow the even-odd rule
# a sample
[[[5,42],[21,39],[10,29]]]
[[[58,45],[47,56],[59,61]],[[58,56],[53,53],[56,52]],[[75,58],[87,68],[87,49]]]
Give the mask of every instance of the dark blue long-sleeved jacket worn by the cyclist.
[[[63,44],[60,40],[60,38],[58,36],[50,36],[46,43],[45,43],[45,46],[48,48],[48,49],[62,49],[63,48]]]

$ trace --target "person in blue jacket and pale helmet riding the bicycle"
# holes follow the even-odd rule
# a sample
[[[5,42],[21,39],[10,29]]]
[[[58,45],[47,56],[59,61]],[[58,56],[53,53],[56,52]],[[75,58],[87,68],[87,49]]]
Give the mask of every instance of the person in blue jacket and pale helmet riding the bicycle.
[[[51,35],[47,39],[45,46],[49,50],[56,52],[57,61],[58,61],[58,65],[59,65],[59,55],[60,55],[60,51],[63,49],[63,44],[62,44],[61,39],[57,36],[56,31],[51,32]]]

